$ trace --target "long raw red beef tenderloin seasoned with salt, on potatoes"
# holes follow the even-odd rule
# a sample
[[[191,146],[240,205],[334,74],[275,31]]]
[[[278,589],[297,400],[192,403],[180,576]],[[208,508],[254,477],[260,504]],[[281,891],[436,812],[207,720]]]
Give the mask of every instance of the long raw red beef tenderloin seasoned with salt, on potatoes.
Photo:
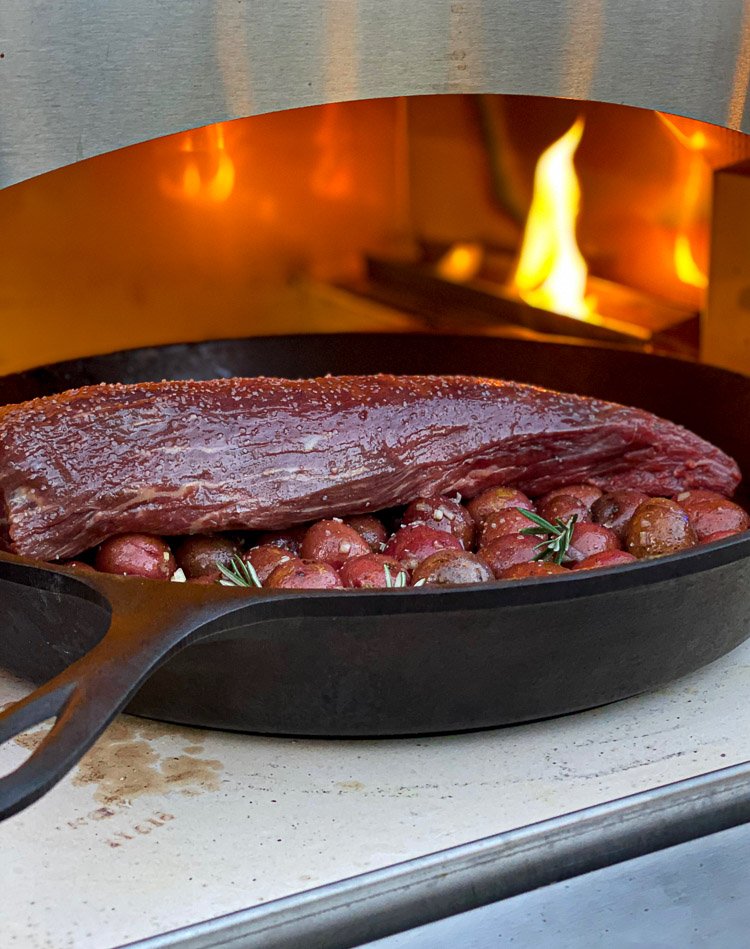
[[[0,536],[278,528],[495,484],[731,495],[737,465],[648,412],[463,376],[97,385],[0,409]]]

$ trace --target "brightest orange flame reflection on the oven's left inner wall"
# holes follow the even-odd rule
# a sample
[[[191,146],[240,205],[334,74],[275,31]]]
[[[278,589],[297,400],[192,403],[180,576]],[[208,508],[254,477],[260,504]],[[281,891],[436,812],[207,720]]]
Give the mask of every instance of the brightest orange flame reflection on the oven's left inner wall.
[[[205,141],[201,141],[201,138]],[[180,141],[185,157],[179,182],[162,178],[162,188],[170,197],[197,204],[222,204],[234,191],[234,162],[224,140],[221,123],[193,133]]]

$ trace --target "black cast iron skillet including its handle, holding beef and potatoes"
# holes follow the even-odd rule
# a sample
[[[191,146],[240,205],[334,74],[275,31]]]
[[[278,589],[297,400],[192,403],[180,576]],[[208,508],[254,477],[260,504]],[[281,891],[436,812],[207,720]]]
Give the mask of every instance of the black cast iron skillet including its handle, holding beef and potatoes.
[[[380,371],[475,373],[642,406],[750,470],[750,379],[575,344],[340,335],[165,346],[0,378],[0,402],[100,381]],[[3,555],[0,664],[46,684],[0,715],[0,742],[56,723],[0,779],[0,818],[59,781],[126,706],[190,725],[328,737],[529,721],[718,658],[750,633],[748,590],[750,535],[576,577],[388,592],[73,576]]]

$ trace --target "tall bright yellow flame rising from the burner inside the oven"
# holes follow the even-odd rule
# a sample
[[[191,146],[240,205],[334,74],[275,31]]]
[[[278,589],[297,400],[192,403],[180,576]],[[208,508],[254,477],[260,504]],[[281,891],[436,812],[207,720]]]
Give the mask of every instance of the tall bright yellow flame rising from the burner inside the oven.
[[[576,242],[581,189],[573,167],[582,135],[579,117],[537,163],[513,289],[532,306],[586,319],[593,301],[586,298],[588,268]]]

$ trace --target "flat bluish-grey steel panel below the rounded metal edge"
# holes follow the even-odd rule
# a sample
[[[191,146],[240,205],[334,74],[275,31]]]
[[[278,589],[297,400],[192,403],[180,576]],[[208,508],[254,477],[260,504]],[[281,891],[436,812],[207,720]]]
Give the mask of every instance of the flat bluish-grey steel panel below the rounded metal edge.
[[[750,825],[744,824],[387,936],[366,949],[745,949],[748,866]]]

